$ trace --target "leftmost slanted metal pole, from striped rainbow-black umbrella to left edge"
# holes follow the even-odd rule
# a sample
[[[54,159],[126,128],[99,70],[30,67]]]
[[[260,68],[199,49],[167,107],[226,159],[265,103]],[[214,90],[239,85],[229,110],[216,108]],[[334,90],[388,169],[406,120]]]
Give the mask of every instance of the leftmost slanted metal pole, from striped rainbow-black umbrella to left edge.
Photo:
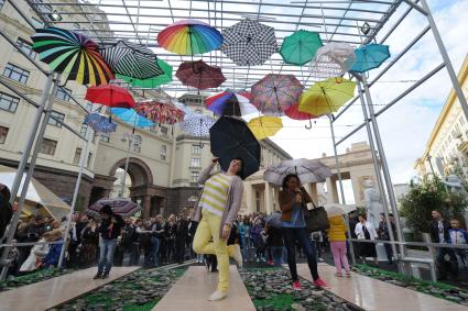
[[[14,237],[14,233],[17,231],[18,221],[19,221],[21,212],[23,210],[28,188],[29,188],[32,175],[34,173],[34,167],[35,167],[35,163],[37,160],[39,151],[41,149],[42,140],[44,137],[45,129],[47,127],[48,119],[50,119],[51,113],[52,113],[52,105],[53,105],[52,96],[56,92],[57,86],[58,86],[58,78],[56,80],[54,80],[54,87],[52,88],[52,93],[48,95],[48,97],[47,97],[45,114],[44,114],[44,118],[42,120],[42,124],[41,124],[41,127],[39,130],[39,133],[37,133],[37,138],[36,138],[36,142],[35,142],[35,145],[34,145],[33,154],[31,156],[31,162],[30,162],[30,166],[28,168],[28,174],[24,178],[23,188],[21,189],[21,196],[20,196],[20,199],[18,200],[18,210],[14,213],[13,220],[10,224],[11,227],[8,232],[7,244],[11,243],[11,241]],[[7,260],[8,253],[10,252],[10,248],[11,247],[4,247],[3,253],[2,253],[2,257],[1,257],[1,263],[4,263]],[[8,266],[9,265],[3,266],[1,275],[0,275],[0,281],[4,280],[7,278]]]

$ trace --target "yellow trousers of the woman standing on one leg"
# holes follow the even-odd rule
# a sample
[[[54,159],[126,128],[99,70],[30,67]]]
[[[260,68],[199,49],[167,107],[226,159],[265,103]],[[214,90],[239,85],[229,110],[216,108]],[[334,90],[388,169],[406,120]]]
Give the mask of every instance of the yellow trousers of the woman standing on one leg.
[[[216,255],[219,270],[218,290],[226,292],[229,288],[229,256],[232,255],[233,248],[228,246],[226,238],[219,237],[220,224],[220,216],[202,210],[202,220],[194,236],[193,248],[197,254]]]

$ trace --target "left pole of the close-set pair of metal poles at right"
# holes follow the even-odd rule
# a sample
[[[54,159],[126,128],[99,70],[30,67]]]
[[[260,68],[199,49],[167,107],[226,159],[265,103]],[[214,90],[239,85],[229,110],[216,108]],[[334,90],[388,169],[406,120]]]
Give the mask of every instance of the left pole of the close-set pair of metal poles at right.
[[[361,84],[360,84],[359,80],[358,80],[358,92],[359,92],[359,99],[361,101],[362,113],[364,115],[366,130],[367,130],[367,133],[368,133],[369,145],[370,145],[370,149],[371,149],[371,154],[372,154],[372,162],[373,162],[373,169],[374,169],[374,173],[376,173],[377,185],[378,185],[379,191],[382,196],[383,213],[385,214],[387,227],[389,229],[389,237],[390,237],[390,241],[394,242],[395,237],[393,235],[392,225],[390,223],[389,206],[388,206],[387,199],[385,199],[385,190],[384,190],[383,185],[382,185],[382,176],[380,174],[380,164],[379,164],[379,159],[377,158],[377,155],[376,155],[376,145],[373,144],[372,131],[370,129],[369,116],[368,116],[368,112],[366,110],[366,102],[364,102],[364,99],[362,97],[362,87],[361,87]],[[392,243],[391,245],[392,245],[392,252],[396,256],[398,253],[396,253],[395,244]],[[403,271],[403,268],[401,267],[400,264],[399,264],[399,269],[400,269],[400,271]]]

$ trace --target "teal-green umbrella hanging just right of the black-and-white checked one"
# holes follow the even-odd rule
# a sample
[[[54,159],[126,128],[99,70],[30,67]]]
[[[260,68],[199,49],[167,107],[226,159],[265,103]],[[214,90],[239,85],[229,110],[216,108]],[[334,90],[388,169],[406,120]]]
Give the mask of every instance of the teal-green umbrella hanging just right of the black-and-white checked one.
[[[284,38],[280,54],[285,63],[302,66],[311,62],[323,45],[318,33],[300,30]]]

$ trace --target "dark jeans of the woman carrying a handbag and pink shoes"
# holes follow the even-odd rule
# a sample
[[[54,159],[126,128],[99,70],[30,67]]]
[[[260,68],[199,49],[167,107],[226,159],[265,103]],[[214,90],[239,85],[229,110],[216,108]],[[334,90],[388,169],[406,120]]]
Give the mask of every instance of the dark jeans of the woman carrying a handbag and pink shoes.
[[[315,246],[311,241],[309,234],[305,227],[283,227],[284,246],[287,251],[287,265],[290,266],[291,277],[293,281],[297,281],[297,267],[296,267],[296,249],[295,242],[301,245],[304,255],[307,257],[308,269],[311,270],[312,278],[318,279],[317,257]]]

